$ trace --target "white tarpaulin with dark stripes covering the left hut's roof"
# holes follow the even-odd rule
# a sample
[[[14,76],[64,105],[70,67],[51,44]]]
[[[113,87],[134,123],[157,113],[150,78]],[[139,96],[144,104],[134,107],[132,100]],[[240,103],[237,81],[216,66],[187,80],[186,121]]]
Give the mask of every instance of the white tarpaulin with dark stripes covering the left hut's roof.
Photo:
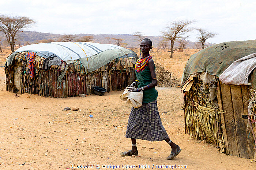
[[[37,52],[38,56],[44,58],[58,57],[67,63],[80,60],[86,73],[97,70],[119,57],[137,57],[135,52],[113,44],[52,42],[31,44],[18,48],[8,57],[7,65],[11,65],[15,54],[22,51]]]

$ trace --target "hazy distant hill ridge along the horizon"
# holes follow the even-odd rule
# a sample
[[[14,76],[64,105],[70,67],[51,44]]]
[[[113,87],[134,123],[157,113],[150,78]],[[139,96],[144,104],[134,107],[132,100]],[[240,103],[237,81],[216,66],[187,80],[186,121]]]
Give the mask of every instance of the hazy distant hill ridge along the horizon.
[[[37,31],[23,31],[20,32],[18,35],[18,39],[16,41],[16,45],[18,46],[24,46],[24,45],[28,45],[28,44],[34,44],[34,43],[38,43],[41,40],[53,40],[53,41],[60,41],[60,37],[62,36],[61,34],[54,34],[54,33],[43,33],[43,32],[37,32]],[[106,43],[108,44],[108,39],[106,39],[106,37],[111,37],[111,38],[121,38],[124,39],[123,46],[127,47],[127,48],[136,48],[139,47],[140,42],[138,41],[138,38],[136,36],[133,36],[131,34],[117,34],[117,35],[112,35],[112,34],[77,34],[76,35],[77,38],[82,37],[82,36],[93,36],[93,42],[95,43]],[[5,35],[3,33],[0,33],[0,37],[5,37]],[[160,41],[162,41],[162,38],[159,36],[145,36],[149,39],[152,40],[153,42],[153,47],[154,48],[159,48],[159,43]],[[191,41],[187,41],[188,45],[186,46],[186,48],[196,48],[198,47],[198,45],[196,45],[196,42],[191,42]],[[1,44],[5,44],[3,43],[3,40],[1,41]],[[111,44],[115,44],[114,40],[111,41]],[[213,45],[212,43],[206,43],[206,46],[211,46]],[[178,48],[178,43],[175,42],[174,43],[174,47]],[[170,48],[170,47],[167,47]]]

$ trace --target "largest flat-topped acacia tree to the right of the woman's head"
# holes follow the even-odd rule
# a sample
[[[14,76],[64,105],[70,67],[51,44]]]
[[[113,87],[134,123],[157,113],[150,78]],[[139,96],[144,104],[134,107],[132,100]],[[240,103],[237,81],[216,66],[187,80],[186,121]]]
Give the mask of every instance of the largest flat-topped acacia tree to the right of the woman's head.
[[[174,41],[176,38],[181,38],[182,35],[192,30],[189,28],[189,25],[194,23],[193,20],[177,20],[172,21],[166,27],[165,31],[161,31],[161,35],[164,40],[171,41],[171,48],[170,48],[170,58],[173,58],[173,51],[174,51]]]

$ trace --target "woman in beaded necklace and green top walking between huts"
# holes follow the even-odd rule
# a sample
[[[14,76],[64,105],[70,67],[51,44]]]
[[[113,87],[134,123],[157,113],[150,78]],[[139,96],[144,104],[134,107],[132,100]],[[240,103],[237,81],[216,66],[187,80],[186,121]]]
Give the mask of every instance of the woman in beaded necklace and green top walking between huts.
[[[155,64],[152,56],[149,54],[152,48],[152,41],[150,39],[145,38],[141,41],[140,52],[142,57],[135,65],[135,73],[138,79],[130,86],[138,85],[138,88],[132,88],[129,92],[143,91],[143,103],[139,108],[132,107],[125,135],[126,138],[131,138],[132,149],[122,152],[122,157],[138,155],[136,139],[147,141],[165,140],[172,147],[171,154],[166,159],[173,159],[181,151],[180,147],[168,137],[158,112],[158,92],[155,90],[155,86],[157,86]]]

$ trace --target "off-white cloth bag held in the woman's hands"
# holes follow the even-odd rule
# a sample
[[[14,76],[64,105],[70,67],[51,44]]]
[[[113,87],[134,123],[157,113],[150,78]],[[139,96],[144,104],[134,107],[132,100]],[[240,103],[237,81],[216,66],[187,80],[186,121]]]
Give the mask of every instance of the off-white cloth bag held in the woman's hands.
[[[125,88],[123,94],[120,96],[120,99],[126,101],[126,104],[130,104],[134,108],[142,106],[143,101],[143,91],[138,92],[129,92]]]

